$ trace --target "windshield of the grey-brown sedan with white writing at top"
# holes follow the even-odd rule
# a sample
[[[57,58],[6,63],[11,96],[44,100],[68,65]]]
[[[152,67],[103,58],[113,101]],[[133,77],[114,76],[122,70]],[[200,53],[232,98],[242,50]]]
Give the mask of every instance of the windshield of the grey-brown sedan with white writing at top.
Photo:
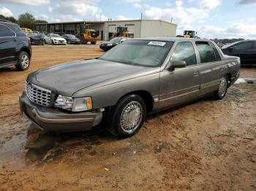
[[[157,67],[173,46],[173,42],[129,40],[113,47],[99,59],[135,66]]]

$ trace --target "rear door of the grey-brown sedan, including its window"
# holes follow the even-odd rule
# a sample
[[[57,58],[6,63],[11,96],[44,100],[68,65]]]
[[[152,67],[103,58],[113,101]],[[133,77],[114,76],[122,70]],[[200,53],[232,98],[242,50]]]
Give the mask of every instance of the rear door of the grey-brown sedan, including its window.
[[[195,43],[200,56],[200,94],[211,93],[217,90],[219,81],[223,77],[222,70],[224,68],[220,62],[221,58],[211,42],[199,41]]]

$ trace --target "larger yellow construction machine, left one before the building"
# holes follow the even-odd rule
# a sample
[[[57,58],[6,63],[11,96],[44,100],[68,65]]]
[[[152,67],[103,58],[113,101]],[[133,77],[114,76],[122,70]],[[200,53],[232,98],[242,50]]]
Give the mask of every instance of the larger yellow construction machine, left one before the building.
[[[81,44],[96,44],[99,41],[99,33],[91,29],[90,24],[81,24],[80,31],[78,31],[78,38],[80,39]]]

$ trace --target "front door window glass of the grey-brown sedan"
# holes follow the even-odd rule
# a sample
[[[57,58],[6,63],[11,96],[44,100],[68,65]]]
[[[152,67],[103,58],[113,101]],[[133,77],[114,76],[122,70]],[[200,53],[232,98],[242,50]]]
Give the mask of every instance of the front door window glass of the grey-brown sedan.
[[[187,66],[197,64],[197,58],[195,56],[195,49],[191,42],[180,42],[177,44],[173,55],[173,61],[186,61]]]

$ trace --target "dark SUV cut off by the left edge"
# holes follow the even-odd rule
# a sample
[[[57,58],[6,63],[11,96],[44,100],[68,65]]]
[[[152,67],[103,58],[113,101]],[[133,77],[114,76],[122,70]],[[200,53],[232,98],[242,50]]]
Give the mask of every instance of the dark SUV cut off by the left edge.
[[[15,23],[0,20],[0,68],[15,65],[23,71],[29,69],[30,39]]]

